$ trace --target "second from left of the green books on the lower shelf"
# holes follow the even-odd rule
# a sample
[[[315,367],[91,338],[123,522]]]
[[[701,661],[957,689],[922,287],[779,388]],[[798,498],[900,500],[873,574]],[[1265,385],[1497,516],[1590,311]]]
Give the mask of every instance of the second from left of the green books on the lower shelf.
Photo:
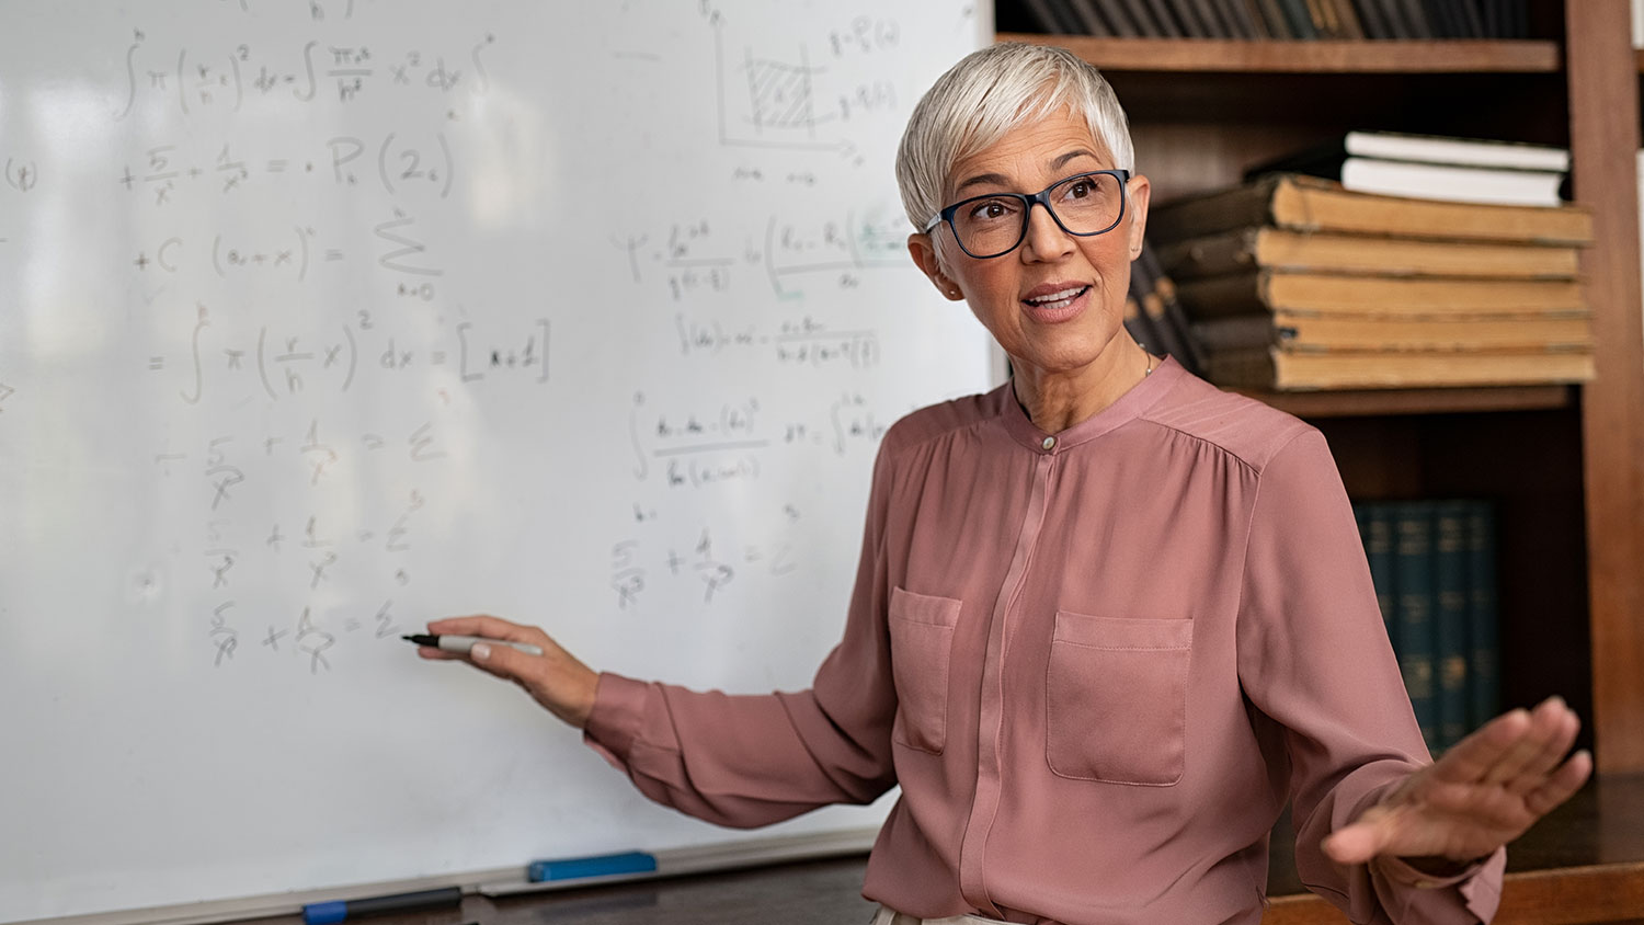
[[[1399,614],[1399,672],[1427,748],[1438,746],[1438,690],[1434,679],[1434,518],[1424,501],[1392,508],[1392,583]]]

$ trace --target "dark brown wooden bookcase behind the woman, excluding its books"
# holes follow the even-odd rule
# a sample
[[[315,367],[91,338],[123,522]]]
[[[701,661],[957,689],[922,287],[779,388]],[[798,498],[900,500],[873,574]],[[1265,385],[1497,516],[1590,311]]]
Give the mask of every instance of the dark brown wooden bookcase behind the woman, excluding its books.
[[[1644,319],[1639,76],[1628,0],[1532,0],[1531,41],[1111,39],[1065,46],[1113,82],[1166,200],[1348,128],[1568,146],[1596,243],[1583,386],[1259,396],[1315,422],[1356,498],[1480,495],[1503,511],[1503,693],[1563,693],[1600,774],[1644,771]]]

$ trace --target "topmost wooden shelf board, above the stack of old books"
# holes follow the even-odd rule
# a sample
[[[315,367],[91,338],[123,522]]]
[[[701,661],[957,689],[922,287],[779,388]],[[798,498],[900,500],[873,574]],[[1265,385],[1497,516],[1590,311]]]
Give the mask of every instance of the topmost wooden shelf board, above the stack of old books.
[[[1057,44],[1103,71],[1249,74],[1552,74],[1552,41],[1228,41],[1000,33]]]

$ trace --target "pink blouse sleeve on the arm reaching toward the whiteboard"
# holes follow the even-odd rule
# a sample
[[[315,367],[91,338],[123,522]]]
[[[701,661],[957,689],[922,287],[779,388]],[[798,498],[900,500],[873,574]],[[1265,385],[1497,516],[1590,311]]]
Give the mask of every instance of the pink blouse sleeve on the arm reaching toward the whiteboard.
[[[646,797],[751,828],[829,803],[868,803],[896,782],[886,470],[881,450],[845,634],[809,690],[733,697],[600,675],[584,738]]]

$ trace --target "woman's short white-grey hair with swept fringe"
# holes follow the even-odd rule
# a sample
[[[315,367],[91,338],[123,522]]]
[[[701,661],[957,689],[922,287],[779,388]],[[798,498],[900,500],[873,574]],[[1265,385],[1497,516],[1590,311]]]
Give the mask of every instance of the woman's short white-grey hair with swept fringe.
[[[896,151],[907,220],[922,232],[942,210],[954,164],[1062,107],[1085,117],[1115,168],[1136,169],[1129,123],[1113,87],[1072,51],[1018,41],[962,58],[921,97]]]

